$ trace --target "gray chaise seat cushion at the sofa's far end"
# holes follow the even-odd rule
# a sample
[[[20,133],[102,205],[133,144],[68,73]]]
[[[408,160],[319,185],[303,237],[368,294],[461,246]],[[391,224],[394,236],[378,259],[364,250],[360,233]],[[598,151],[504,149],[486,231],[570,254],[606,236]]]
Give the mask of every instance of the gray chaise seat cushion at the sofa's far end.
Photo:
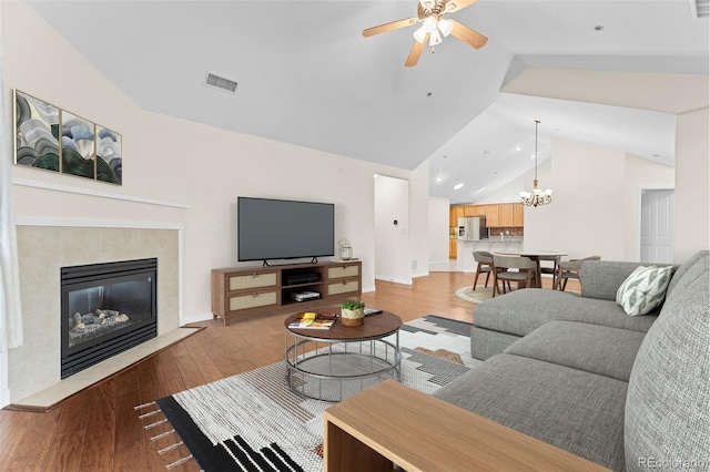
[[[494,331],[526,336],[554,319],[580,321],[646,332],[658,310],[630,317],[616,301],[579,297],[547,288],[525,288],[491,298],[474,308],[474,325]]]

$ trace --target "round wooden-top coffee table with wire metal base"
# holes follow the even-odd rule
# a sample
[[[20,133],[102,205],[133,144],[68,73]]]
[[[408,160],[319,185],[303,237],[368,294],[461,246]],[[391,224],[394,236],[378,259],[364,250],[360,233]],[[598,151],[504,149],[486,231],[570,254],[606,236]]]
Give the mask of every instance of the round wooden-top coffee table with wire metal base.
[[[315,312],[339,314],[339,307]],[[284,320],[286,383],[303,397],[341,401],[378,383],[400,378],[402,319],[389,311],[365,318],[363,326],[345,327],[337,318],[329,329],[298,329],[297,314]],[[394,335],[394,341],[384,339]]]

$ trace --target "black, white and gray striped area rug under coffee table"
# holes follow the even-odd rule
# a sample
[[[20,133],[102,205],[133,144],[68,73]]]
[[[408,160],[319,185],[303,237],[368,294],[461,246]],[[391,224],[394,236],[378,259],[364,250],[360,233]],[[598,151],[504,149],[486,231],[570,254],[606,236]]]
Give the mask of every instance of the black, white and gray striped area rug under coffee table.
[[[469,324],[433,315],[403,325],[399,381],[433,393],[468,371],[479,362],[469,335]],[[354,381],[343,398],[384,378]],[[322,414],[333,403],[304,399],[285,379],[285,363],[275,362],[156,403],[204,471],[321,471]]]

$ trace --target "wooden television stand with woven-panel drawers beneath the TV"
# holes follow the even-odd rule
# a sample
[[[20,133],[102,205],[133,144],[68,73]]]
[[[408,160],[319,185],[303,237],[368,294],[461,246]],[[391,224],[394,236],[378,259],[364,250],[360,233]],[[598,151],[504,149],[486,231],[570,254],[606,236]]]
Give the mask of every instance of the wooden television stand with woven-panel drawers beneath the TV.
[[[358,299],[363,290],[359,260],[288,264],[268,267],[212,269],[212,316],[227,320],[241,316],[293,312],[318,305]],[[317,299],[292,299],[292,294],[313,291]]]

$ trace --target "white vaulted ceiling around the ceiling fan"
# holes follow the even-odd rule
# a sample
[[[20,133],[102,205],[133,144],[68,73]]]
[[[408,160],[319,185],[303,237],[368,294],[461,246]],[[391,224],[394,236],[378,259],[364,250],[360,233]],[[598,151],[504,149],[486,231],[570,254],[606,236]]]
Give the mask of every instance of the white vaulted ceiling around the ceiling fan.
[[[531,168],[534,120],[540,161],[559,136],[672,165],[674,114],[709,100],[693,0],[479,0],[449,18],[488,43],[448,37],[415,68],[416,27],[362,31],[415,17],[416,0],[30,4],[143,110],[406,170],[429,160],[430,194],[452,203]]]

